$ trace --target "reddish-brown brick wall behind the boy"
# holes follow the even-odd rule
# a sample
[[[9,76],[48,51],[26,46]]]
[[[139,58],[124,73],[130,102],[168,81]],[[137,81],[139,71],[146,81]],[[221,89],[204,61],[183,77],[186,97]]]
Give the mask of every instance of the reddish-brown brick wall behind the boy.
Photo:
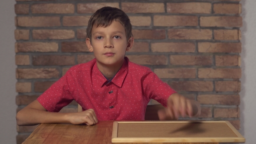
[[[104,6],[128,14],[127,56],[202,106],[196,119],[240,129],[240,0],[16,0],[16,104],[28,105],[72,66],[94,58],[88,20]],[[156,101],[151,101],[155,104]],[[77,111],[76,102],[62,111]],[[188,119],[188,118],[184,118]],[[17,127],[17,143],[36,128]]]

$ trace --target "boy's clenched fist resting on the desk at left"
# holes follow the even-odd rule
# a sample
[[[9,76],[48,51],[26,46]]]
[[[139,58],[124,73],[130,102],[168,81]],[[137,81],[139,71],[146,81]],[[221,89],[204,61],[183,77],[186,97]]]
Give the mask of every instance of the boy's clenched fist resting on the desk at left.
[[[98,123],[98,119],[93,109],[82,112],[69,113],[67,116],[71,124],[93,125]]]

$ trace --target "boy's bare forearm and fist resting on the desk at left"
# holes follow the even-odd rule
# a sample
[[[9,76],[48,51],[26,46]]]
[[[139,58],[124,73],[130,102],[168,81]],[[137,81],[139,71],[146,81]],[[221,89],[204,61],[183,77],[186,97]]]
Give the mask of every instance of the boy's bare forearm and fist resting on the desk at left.
[[[18,125],[36,125],[42,123],[71,123],[93,125],[98,119],[93,109],[76,113],[59,113],[47,111],[35,100],[16,115]]]

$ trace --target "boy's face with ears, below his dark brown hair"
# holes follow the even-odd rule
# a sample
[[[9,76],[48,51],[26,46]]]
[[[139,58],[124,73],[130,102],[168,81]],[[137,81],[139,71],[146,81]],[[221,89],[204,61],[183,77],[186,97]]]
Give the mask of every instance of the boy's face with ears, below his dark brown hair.
[[[133,37],[127,40],[125,27],[113,20],[108,27],[92,27],[92,39],[86,39],[90,52],[94,52],[97,64],[101,66],[122,65],[125,51],[129,51],[133,44]]]

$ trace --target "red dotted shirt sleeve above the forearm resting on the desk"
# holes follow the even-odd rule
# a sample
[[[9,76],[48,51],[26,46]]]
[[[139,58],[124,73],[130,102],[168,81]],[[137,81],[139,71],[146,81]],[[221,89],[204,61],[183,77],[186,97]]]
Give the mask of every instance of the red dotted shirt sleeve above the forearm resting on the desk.
[[[37,98],[39,103],[50,112],[59,112],[68,105],[76,95],[76,85],[70,71],[62,76],[50,88]]]

